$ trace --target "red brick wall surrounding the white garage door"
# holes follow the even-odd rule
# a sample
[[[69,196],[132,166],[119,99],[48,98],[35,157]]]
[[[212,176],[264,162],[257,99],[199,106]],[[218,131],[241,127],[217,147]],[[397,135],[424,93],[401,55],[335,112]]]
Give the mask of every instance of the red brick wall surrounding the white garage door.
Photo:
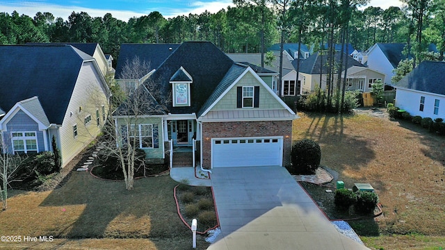
[[[290,165],[292,121],[204,122],[202,124],[202,166],[207,169],[211,167],[211,138],[265,136],[283,137],[283,165]]]

